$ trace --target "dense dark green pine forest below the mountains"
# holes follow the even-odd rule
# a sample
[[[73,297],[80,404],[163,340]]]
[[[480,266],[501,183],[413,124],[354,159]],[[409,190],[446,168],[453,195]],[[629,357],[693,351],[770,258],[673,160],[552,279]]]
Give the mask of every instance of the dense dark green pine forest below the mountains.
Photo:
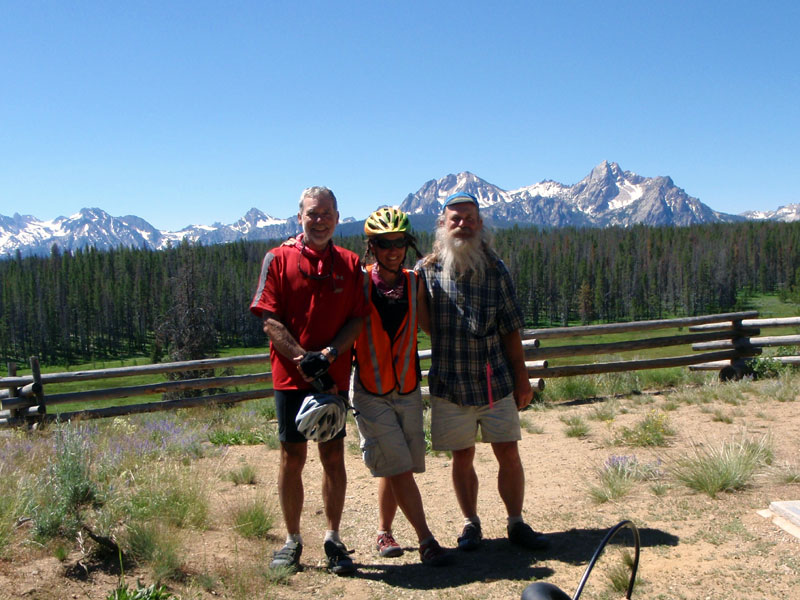
[[[419,236],[423,251],[431,234]],[[363,253],[360,237],[336,243]],[[275,242],[182,244],[0,260],[0,359],[43,364],[163,358],[186,328],[205,351],[263,346],[248,306]],[[529,327],[692,316],[747,308],[751,294],[800,301],[800,223],[514,228],[495,232]],[[413,263],[409,257],[408,262]]]

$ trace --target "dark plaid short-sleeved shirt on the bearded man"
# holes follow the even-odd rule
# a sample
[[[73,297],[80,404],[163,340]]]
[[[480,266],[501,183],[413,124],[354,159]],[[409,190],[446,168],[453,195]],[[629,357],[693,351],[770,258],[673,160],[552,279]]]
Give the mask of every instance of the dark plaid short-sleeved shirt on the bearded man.
[[[469,272],[454,279],[439,263],[420,269],[431,313],[428,385],[432,395],[456,404],[489,403],[487,364],[494,400],[514,390],[501,336],[525,321],[508,269],[497,255],[490,256],[494,263],[480,278]]]

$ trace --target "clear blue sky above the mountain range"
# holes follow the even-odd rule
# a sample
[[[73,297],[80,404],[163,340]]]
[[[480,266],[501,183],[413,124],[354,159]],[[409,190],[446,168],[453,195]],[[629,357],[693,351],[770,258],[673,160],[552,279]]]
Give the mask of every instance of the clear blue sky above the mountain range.
[[[800,3],[0,0],[0,214],[343,217],[603,160],[715,210],[800,202]]]

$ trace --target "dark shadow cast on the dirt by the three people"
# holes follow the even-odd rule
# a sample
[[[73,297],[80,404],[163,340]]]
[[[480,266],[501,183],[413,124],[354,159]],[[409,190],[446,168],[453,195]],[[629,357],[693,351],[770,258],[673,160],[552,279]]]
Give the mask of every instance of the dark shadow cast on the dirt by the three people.
[[[555,573],[550,566],[537,561],[561,561],[573,565],[587,564],[608,529],[571,529],[548,534],[550,548],[544,552],[528,552],[514,546],[505,538],[484,540],[475,552],[450,550],[451,563],[445,567],[426,567],[420,563],[392,564],[391,562],[359,564],[361,579],[381,581],[397,588],[437,590],[494,580],[532,581],[547,579]],[[646,548],[676,546],[678,537],[658,529],[640,529],[643,560]],[[633,549],[633,537],[620,531],[609,547]],[[407,548],[407,552],[416,549]]]

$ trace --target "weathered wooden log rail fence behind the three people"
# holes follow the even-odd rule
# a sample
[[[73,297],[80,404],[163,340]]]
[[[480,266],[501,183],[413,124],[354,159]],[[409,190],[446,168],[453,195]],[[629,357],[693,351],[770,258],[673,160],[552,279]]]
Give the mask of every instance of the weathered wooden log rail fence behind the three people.
[[[800,335],[757,337],[760,327],[800,326],[800,317],[790,319],[757,319],[755,311],[724,313],[663,319],[653,321],[634,321],[607,325],[588,325],[580,327],[555,327],[551,329],[523,330],[528,376],[534,390],[544,389],[545,380],[553,377],[570,377],[660,369],[676,366],[689,366],[692,369],[714,369],[720,371],[721,378],[738,377],[747,371],[747,359],[761,353],[767,346],[800,345]],[[593,337],[607,334],[628,334],[656,331],[659,329],[688,328],[689,333],[654,336],[607,343],[572,344],[548,346],[547,341],[571,337]],[[542,341],[545,341],[544,346]],[[670,346],[691,345],[692,354],[653,359],[616,360],[611,362],[587,362],[585,364],[551,366],[551,359],[614,355]],[[430,350],[420,351],[420,359],[430,358]],[[787,364],[800,364],[800,357],[778,357],[775,360]],[[164,381],[145,385],[87,390],[60,394],[45,394],[45,386],[54,383],[104,380],[137,375],[154,375],[174,372],[209,370],[221,367],[263,364],[268,366],[267,354],[254,354],[231,358],[214,358],[196,361],[160,363],[133,367],[97,369],[91,371],[72,371],[66,373],[42,374],[38,359],[31,358],[31,375],[18,377],[16,365],[8,365],[8,377],[0,378],[0,426],[31,425],[43,420],[77,418],[113,417],[144,412],[173,410],[210,404],[232,404],[245,400],[267,398],[273,395],[271,386],[261,386],[248,391],[235,391],[195,398],[161,400],[124,406],[92,408],[58,415],[48,414],[47,407],[65,403],[80,403],[97,400],[115,400],[134,396],[163,394],[188,389],[212,389],[236,387],[253,384],[269,384],[270,372],[231,375],[223,377],[201,377],[179,381]],[[427,371],[423,371],[423,376]],[[428,395],[428,388],[422,388]]]

